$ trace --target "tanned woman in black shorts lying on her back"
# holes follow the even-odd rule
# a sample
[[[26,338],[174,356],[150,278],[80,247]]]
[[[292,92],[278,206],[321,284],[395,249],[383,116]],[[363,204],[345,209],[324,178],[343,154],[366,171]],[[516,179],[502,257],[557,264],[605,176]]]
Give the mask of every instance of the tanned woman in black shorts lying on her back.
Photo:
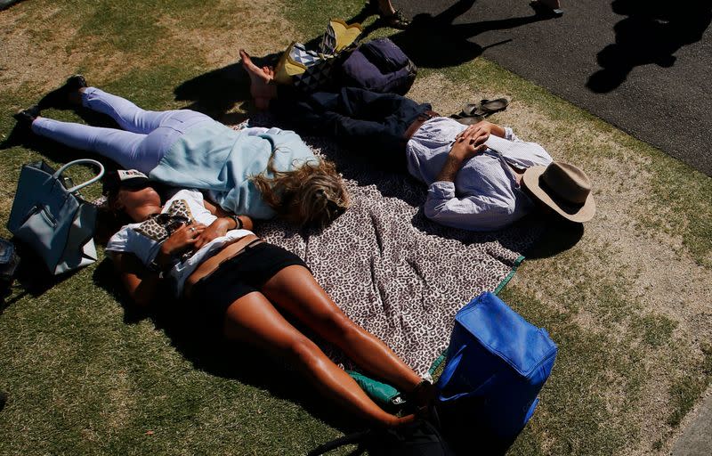
[[[291,362],[324,395],[383,426],[415,419],[382,410],[358,384],[287,322],[289,314],[341,348],[364,371],[384,379],[425,406],[431,385],[391,349],[352,322],[314,280],[303,261],[260,240],[247,216],[226,216],[195,190],[180,190],[165,204],[136,171],[119,172],[109,185],[109,208],[128,216],[107,251],[128,294],[150,305],[162,281],[219,324],[226,338]]]

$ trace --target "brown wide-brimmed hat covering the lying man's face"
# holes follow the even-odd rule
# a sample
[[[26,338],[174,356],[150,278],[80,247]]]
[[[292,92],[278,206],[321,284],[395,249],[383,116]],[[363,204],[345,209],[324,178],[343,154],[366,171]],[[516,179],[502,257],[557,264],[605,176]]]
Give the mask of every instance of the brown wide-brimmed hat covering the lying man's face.
[[[583,223],[595,215],[591,180],[578,167],[561,161],[547,167],[529,167],[522,182],[532,195],[563,218]]]

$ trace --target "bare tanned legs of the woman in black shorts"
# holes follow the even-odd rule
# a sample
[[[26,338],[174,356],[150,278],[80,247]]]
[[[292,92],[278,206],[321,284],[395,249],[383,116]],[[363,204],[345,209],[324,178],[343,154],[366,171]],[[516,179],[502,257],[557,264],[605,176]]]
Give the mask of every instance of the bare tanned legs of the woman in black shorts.
[[[279,314],[292,314],[320,337],[344,350],[366,371],[412,391],[420,382],[385,344],[348,319],[303,266],[288,266],[267,281],[262,293],[240,297],[227,311],[224,332],[287,359],[328,397],[385,426],[409,422],[381,409],[344,370]]]

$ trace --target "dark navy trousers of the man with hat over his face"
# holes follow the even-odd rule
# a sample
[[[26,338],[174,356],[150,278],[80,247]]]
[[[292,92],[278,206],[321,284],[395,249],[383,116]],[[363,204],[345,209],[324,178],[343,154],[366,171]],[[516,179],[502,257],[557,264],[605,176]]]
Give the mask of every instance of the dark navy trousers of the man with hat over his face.
[[[432,107],[398,94],[376,94],[344,87],[337,93],[302,94],[280,86],[270,108],[295,128],[334,136],[337,141],[384,165],[405,161],[404,134],[416,118]],[[390,162],[390,163],[388,163]]]

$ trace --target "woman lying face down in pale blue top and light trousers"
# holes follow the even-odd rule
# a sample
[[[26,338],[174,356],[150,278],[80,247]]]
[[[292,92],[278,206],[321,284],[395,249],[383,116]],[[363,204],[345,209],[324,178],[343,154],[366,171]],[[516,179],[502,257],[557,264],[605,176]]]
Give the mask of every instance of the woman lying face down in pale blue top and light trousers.
[[[109,115],[122,130],[39,117],[44,107],[80,105]],[[315,157],[291,131],[235,131],[192,110],[142,110],[87,87],[80,75],[69,77],[18,118],[40,136],[97,152],[162,183],[198,188],[230,212],[324,226],[348,207],[336,167]]]

